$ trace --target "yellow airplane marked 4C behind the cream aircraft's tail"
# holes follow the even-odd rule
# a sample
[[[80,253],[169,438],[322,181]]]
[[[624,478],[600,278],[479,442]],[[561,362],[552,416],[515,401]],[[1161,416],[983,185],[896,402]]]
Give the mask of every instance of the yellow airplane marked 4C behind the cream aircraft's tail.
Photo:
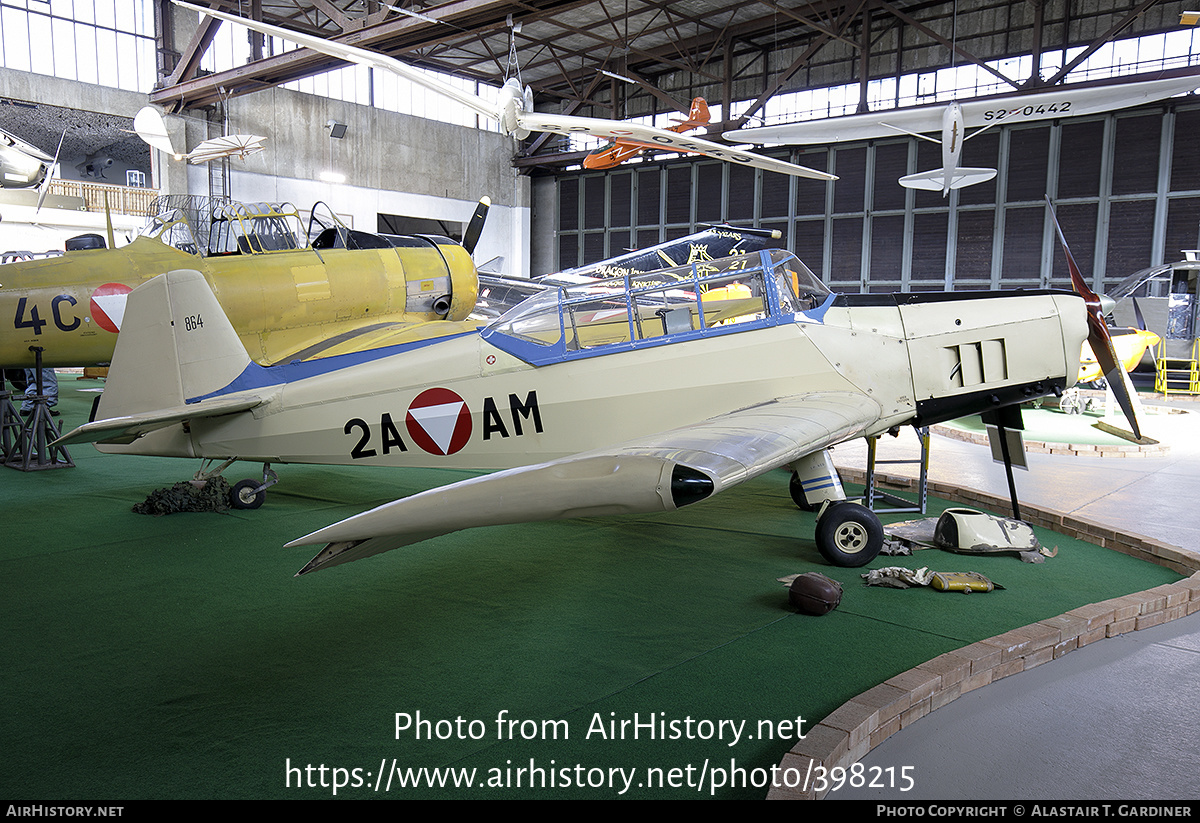
[[[318,221],[324,228],[310,245],[293,206],[266,203],[220,205],[202,220],[170,210],[121,248],[82,235],[61,257],[0,266],[0,366],[32,367],[31,347],[48,367],[109,362],[126,296],[179,269],[204,276],[260,365],[424,340],[475,305],[470,251],[486,211],[485,198],[466,246],[335,220]]]

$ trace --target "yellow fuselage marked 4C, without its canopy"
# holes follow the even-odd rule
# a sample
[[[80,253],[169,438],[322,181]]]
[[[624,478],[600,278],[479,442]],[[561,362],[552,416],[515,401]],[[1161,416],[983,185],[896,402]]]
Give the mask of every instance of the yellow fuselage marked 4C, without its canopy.
[[[478,292],[470,256],[456,244],[205,258],[143,236],[0,266],[0,366],[32,366],[30,347],[50,367],[108,364],[124,293],[175,269],[204,275],[263,365],[420,336],[421,324],[464,319]],[[450,311],[439,313],[431,302],[443,295]]]

